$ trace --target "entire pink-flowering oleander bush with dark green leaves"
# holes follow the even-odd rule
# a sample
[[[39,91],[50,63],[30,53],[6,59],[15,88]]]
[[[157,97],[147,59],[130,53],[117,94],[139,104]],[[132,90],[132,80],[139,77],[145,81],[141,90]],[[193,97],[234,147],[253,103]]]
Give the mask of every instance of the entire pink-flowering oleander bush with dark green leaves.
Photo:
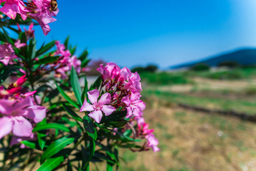
[[[97,70],[100,76],[89,85],[84,72],[90,62],[88,51],[77,57],[69,37],[64,44],[54,40],[36,49],[34,24],[25,17],[34,16],[31,18],[39,22],[44,34],[48,33],[45,31],[50,27],[40,19],[45,15],[49,15],[48,19],[56,17],[56,1],[7,0],[1,5],[2,170],[32,170],[37,162],[38,170],[89,170],[92,162],[103,161],[107,170],[112,170],[119,166],[117,148],[133,152],[160,150],[152,134],[154,130],[148,129],[141,117],[145,103],[140,100],[139,74],[115,63],[100,64],[99,68],[94,65],[92,70]],[[18,7],[3,10],[12,6]],[[30,27],[22,31],[19,25]],[[13,31],[12,36],[6,28]],[[17,80],[13,83],[10,76]]]

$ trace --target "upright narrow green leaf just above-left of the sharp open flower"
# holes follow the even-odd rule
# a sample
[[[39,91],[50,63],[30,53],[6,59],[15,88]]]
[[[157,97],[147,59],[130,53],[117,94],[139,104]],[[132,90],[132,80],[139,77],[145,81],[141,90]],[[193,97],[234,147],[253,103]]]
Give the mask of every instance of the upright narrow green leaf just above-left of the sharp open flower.
[[[82,106],[82,100],[81,100],[82,89],[79,83],[78,74],[76,74],[76,70],[74,67],[72,67],[71,69],[71,86],[75,93],[76,99],[78,99],[80,106]]]

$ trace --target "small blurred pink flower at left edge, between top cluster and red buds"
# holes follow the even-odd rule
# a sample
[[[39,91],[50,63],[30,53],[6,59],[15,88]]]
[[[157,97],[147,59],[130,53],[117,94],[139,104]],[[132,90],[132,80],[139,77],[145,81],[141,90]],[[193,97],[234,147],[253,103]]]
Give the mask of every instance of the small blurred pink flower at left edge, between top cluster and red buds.
[[[11,47],[11,44],[0,44],[0,62],[7,66],[10,60],[14,58],[17,58],[17,56],[14,54],[14,50]]]

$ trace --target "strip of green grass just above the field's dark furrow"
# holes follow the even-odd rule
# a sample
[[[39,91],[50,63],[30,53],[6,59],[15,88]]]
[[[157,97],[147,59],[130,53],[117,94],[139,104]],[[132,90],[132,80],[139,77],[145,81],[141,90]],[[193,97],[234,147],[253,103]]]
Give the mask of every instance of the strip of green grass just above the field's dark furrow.
[[[144,90],[142,92],[144,98],[150,99],[149,96],[157,96],[161,100],[166,100],[172,103],[182,103],[197,107],[222,109],[225,111],[245,112],[251,115],[256,114],[256,99],[247,101],[243,99],[230,100],[212,97],[197,97],[185,95],[181,93]]]

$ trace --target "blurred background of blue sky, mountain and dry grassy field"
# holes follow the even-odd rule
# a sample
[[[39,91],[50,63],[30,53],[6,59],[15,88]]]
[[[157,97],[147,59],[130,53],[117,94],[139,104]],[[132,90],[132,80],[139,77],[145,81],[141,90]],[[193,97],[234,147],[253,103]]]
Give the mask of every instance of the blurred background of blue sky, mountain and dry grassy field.
[[[58,5],[39,44],[70,35],[89,69],[116,62],[141,76],[161,151],[123,150],[122,170],[256,170],[256,1]]]

